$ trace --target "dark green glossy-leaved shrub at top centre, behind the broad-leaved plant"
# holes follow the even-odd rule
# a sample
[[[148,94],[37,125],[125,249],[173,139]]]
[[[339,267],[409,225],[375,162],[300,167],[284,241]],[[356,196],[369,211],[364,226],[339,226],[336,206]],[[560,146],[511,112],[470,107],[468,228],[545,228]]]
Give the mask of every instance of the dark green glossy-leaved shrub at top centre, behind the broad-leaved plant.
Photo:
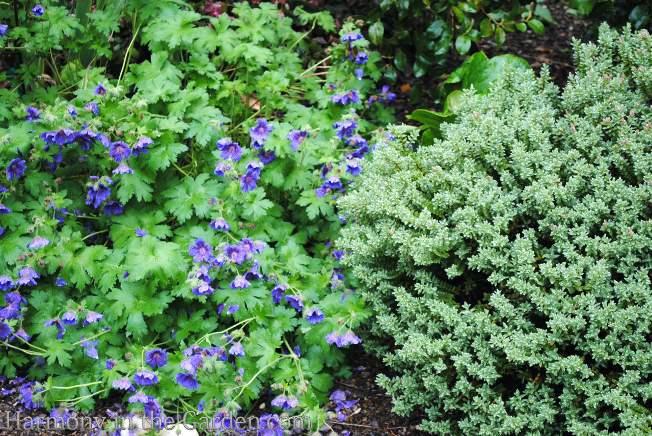
[[[326,2],[323,6],[336,9],[336,5]],[[513,0],[376,0],[360,2],[355,10],[353,18],[368,25],[369,40],[383,55],[393,58],[396,70],[417,78],[441,76],[452,50],[466,55],[473,51],[473,44],[489,37],[501,45],[507,32],[528,28],[543,33],[541,20],[552,20],[537,2]],[[386,72],[392,84],[396,70]]]

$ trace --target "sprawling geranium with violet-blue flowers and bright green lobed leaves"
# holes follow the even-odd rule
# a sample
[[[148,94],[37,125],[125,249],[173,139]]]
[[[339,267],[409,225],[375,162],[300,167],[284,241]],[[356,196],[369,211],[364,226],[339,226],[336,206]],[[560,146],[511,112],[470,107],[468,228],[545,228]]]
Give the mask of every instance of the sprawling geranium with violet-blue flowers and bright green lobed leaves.
[[[271,394],[317,428],[368,316],[331,241],[394,120],[378,53],[353,22],[325,53],[329,14],[269,3],[11,6],[0,373],[29,377],[22,407],[124,392],[199,421]]]

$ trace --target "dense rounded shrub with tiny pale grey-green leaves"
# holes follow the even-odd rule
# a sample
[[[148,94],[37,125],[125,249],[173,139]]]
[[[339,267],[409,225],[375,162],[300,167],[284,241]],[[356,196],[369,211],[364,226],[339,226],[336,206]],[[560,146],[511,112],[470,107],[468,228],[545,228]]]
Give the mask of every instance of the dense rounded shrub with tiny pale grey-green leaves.
[[[445,139],[396,129],[338,204],[338,248],[437,435],[641,435],[652,424],[652,49],[574,42],[561,96],[505,71]]]

